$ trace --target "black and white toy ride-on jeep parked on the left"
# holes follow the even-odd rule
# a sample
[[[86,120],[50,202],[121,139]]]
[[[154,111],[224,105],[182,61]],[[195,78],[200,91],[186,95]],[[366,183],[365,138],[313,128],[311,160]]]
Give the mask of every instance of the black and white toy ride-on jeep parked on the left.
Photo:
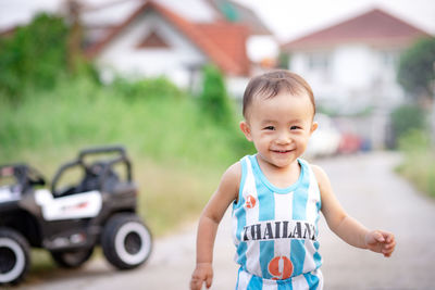
[[[37,188],[44,185],[30,166],[0,166],[0,285],[25,277],[30,247],[47,249],[63,267],[84,264],[97,244],[119,269],[147,261],[151,234],[136,214],[138,190],[123,148],[84,150],[59,168],[51,191]]]

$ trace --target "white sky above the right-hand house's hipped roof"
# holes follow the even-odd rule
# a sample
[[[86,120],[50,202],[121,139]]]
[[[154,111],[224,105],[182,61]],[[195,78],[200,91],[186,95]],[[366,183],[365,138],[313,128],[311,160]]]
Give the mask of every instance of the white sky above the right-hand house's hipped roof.
[[[293,40],[380,8],[435,35],[434,0],[237,0],[251,7],[282,40]]]

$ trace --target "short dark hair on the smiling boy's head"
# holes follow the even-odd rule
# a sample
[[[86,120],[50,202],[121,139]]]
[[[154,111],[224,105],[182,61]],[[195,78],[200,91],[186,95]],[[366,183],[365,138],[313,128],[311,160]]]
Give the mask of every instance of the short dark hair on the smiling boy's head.
[[[261,94],[269,99],[275,97],[282,91],[291,94],[306,92],[310,98],[315,114],[314,94],[310,85],[308,85],[301,76],[295,73],[285,70],[277,70],[256,76],[249,81],[244,93],[245,118],[247,110],[256,96]]]

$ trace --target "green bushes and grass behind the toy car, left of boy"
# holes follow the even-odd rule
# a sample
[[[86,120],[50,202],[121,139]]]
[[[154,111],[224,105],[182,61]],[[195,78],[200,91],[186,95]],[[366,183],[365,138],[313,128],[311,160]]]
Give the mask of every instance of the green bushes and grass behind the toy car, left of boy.
[[[61,18],[39,15],[1,40],[0,164],[26,162],[50,179],[79,149],[123,144],[158,234],[198,214],[223,169],[252,152],[222,75],[209,68],[201,102],[165,78],[103,86],[86,63],[67,72],[66,37]]]

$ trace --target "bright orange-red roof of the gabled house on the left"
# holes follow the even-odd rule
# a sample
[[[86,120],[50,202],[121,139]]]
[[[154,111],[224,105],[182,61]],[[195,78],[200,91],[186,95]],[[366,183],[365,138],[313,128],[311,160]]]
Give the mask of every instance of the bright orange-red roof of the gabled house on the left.
[[[225,73],[232,75],[246,75],[248,73],[247,64],[249,64],[249,61],[245,52],[245,42],[248,34],[240,25],[231,23],[215,25],[194,24],[153,1],[147,1],[124,23],[115,27],[105,39],[90,47],[86,51],[87,56],[95,58],[138,15],[149,9],[153,9],[165,17]],[[226,50],[229,47],[231,49]]]

